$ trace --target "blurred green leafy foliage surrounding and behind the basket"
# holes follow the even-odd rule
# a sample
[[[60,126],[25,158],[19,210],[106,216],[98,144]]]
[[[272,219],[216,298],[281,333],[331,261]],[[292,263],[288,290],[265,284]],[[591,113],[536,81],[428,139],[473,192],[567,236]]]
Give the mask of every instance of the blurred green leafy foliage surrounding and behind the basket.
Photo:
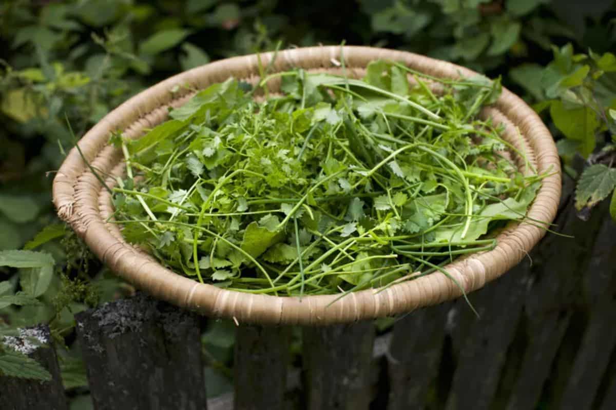
[[[616,192],[613,0],[4,0],[0,251],[22,249],[47,227],[26,247],[51,255],[63,275],[49,279],[49,264],[33,262],[40,256],[18,254],[30,262],[15,266],[15,254],[2,254],[0,298],[20,294],[40,304],[6,302],[0,329],[46,322],[67,336],[73,313],[130,291],[54,225],[51,180],[75,143],[68,123],[80,136],[131,95],[211,60],[272,50],[278,42],[285,48],[343,40],[501,76],[545,116],[567,173],[577,178],[585,169],[586,181],[599,181],[578,193],[578,207]],[[60,238],[62,245],[49,242]],[[94,283],[95,294],[84,283]]]

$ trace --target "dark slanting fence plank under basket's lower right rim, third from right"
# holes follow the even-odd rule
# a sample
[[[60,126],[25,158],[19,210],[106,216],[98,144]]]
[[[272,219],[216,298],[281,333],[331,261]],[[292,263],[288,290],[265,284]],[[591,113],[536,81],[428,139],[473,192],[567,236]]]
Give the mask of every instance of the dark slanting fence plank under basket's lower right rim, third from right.
[[[447,409],[489,409],[513,341],[528,281],[525,265],[515,267],[472,301],[479,318],[459,353]]]

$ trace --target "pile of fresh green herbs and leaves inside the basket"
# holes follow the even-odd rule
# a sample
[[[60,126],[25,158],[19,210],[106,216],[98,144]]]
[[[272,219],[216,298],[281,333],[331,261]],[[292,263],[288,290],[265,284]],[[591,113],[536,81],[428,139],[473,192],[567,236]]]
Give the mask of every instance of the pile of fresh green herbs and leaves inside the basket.
[[[270,94],[275,78],[282,92]],[[171,269],[251,293],[447,274],[456,256],[492,249],[484,235],[524,218],[540,185],[479,119],[499,95],[499,81],[383,60],[363,80],[302,69],[254,87],[229,79],[139,140],[111,137],[126,159],[114,221]]]

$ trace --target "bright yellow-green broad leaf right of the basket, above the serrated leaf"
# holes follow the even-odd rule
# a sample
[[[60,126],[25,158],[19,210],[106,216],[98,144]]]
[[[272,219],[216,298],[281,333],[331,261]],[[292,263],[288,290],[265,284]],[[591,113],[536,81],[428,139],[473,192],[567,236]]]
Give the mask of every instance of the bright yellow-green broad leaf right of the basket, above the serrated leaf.
[[[561,101],[554,101],[549,109],[554,125],[571,140],[580,141],[580,154],[588,157],[596,145],[595,133],[599,119],[590,107],[564,108]]]

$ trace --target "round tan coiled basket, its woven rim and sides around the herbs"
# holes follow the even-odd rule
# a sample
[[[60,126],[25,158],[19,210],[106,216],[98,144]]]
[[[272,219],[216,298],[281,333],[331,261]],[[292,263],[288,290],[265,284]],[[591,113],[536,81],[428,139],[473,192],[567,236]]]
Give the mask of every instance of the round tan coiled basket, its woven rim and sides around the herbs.
[[[198,90],[233,76],[255,83],[261,66],[267,66],[274,53],[247,55],[216,61],[178,74],[139,93],[116,108],[79,141],[79,147],[100,175],[123,175],[120,149],[108,144],[111,132],[139,138],[145,130],[163,122],[169,107],[184,104]],[[344,58],[346,74],[362,77],[372,60],[385,58],[436,77],[475,76],[477,73],[445,61],[408,52],[371,47],[309,47],[278,52],[270,73],[301,67],[308,71],[341,73]],[[280,83],[270,82],[270,89]],[[433,84],[435,89],[437,84]],[[537,114],[519,97],[503,89],[495,106],[484,109],[506,126],[504,138],[523,150],[538,173],[549,172],[528,212],[528,221],[509,224],[497,237],[491,251],[470,254],[445,267],[466,293],[477,290],[516,265],[545,234],[532,221],[551,223],[561,194],[560,162],[553,138]],[[522,164],[521,164],[522,166]],[[344,298],[338,295],[297,297],[267,296],[229,291],[204,285],[163,267],[147,253],[126,243],[116,224],[107,223],[113,213],[111,196],[92,173],[81,154],[73,148],[54,179],[54,203],[60,218],[70,223],[92,251],[116,274],[156,298],[196,310],[204,315],[234,318],[240,322],[263,324],[328,325],[410,312],[461,296],[451,278],[438,272],[404,280],[385,290],[358,291]],[[409,272],[412,276],[413,273]],[[339,300],[335,301],[335,299]],[[333,302],[333,303],[332,303]]]

